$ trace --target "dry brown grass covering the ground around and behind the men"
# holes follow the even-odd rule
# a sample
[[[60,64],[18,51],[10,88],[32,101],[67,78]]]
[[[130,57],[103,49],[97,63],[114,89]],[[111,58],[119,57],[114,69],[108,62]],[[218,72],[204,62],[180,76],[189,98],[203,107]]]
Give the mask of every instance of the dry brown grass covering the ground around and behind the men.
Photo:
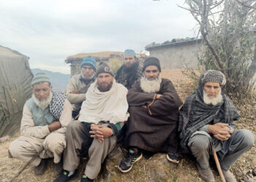
[[[185,100],[187,95],[189,95],[194,85],[191,81],[181,74],[181,70],[163,70],[162,77],[171,79],[178,95],[180,95],[181,100]],[[236,122],[237,129],[246,128],[251,130],[256,137],[256,107],[246,104],[241,104],[238,101],[234,101],[234,104],[240,111],[241,119]],[[8,139],[4,143],[0,143],[0,181],[9,181],[21,167],[23,167],[24,162],[20,162],[18,159],[9,159],[7,156],[7,149],[10,142],[15,140],[18,135]],[[236,170],[251,170],[256,167],[256,157],[255,157],[255,146],[252,147],[246,154],[238,159],[231,170],[235,173]],[[110,181],[115,182],[126,182],[126,181],[202,181],[197,173],[195,167],[195,161],[191,157],[184,157],[181,162],[176,166],[167,162],[165,154],[156,154],[150,159],[141,159],[134,168],[126,174],[122,174],[118,171],[116,165],[118,161],[121,160],[121,156],[118,159],[108,159],[108,172],[103,171],[97,181],[106,181],[103,179],[110,179]],[[83,168],[85,166],[85,161],[83,160],[80,164],[80,175],[82,174]],[[159,170],[159,167],[163,167]],[[160,171],[160,172],[159,172]],[[165,178],[160,178],[164,176]],[[214,176],[216,181],[220,181],[219,175],[214,171]],[[53,174],[53,162],[50,161],[48,170],[43,175],[34,175],[33,167],[28,167],[23,173],[18,176],[15,181],[53,181],[57,176]],[[243,177],[239,177],[242,179]],[[73,181],[79,181],[80,176],[75,178]]]

